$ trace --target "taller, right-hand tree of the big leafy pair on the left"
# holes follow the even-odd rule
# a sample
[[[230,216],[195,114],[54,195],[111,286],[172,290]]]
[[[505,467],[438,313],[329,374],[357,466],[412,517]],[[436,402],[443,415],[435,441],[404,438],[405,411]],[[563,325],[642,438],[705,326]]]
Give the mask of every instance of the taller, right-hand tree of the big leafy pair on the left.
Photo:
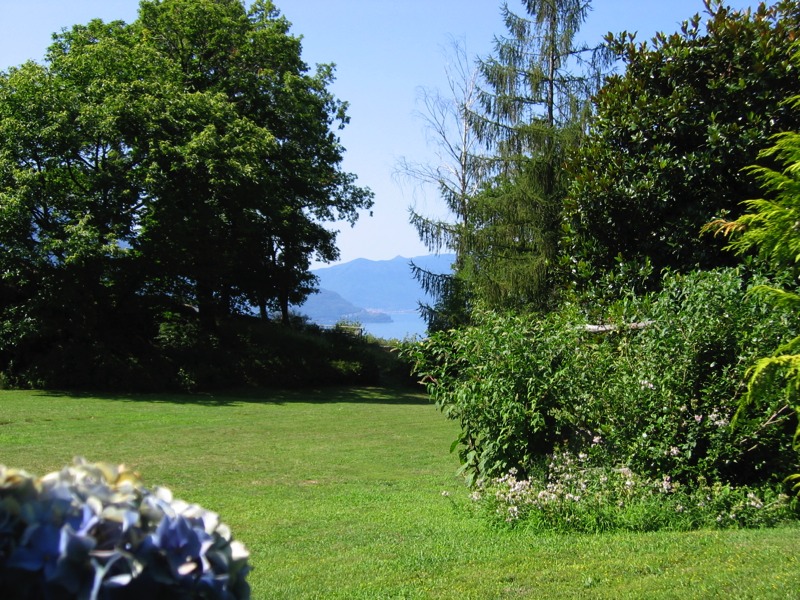
[[[229,310],[238,293],[262,308],[278,301],[285,318],[287,293],[299,301],[310,289],[287,282],[307,279],[313,255],[337,256],[321,223],[371,204],[340,169],[332,126],[347,116],[327,89],[332,68],[309,74],[300,40],[266,1],[249,13],[238,0],[143,2],[139,25],[178,66],[187,99],[207,103],[160,117],[150,150],[161,201],[142,239],[173,281],[194,284],[201,314]]]

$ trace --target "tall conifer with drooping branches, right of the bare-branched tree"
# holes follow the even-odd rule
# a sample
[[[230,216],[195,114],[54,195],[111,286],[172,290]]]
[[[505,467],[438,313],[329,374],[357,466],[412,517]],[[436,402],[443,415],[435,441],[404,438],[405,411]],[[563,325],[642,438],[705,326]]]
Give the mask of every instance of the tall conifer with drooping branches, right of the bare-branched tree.
[[[493,151],[493,176],[470,215],[463,275],[491,306],[546,304],[553,287],[566,156],[579,142],[599,83],[598,53],[577,34],[587,0],[526,0],[520,16],[507,4],[508,33],[481,61],[478,138]]]

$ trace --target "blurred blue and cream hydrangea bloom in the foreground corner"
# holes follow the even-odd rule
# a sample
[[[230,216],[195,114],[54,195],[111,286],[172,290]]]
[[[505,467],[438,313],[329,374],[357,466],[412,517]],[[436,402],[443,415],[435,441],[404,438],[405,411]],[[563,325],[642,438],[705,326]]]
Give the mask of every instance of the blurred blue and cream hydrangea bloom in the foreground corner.
[[[123,466],[76,459],[35,478],[0,465],[6,600],[239,600],[247,551],[203,508]]]

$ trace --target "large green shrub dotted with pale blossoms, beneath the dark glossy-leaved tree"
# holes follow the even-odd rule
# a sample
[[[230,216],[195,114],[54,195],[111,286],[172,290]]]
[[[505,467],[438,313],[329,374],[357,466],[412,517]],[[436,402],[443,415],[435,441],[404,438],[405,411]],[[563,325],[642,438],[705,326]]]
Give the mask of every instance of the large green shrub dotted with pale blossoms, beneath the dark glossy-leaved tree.
[[[678,481],[750,483],[787,468],[794,416],[779,396],[731,427],[747,367],[797,330],[791,313],[765,308],[747,287],[734,270],[667,277],[647,302],[647,327],[606,336],[586,357],[604,355],[613,370],[591,369],[582,391],[593,397],[569,411],[584,438],[600,435],[604,453]]]

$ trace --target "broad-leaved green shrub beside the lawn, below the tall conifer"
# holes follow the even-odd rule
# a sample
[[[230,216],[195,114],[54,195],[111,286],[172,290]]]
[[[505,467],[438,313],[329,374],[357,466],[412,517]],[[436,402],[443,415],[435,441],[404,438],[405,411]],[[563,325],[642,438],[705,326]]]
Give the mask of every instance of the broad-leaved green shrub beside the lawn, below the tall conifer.
[[[470,481],[524,472],[566,433],[556,411],[559,381],[574,370],[576,320],[568,312],[541,320],[478,312],[472,327],[403,348],[437,406],[460,422],[453,449]]]

